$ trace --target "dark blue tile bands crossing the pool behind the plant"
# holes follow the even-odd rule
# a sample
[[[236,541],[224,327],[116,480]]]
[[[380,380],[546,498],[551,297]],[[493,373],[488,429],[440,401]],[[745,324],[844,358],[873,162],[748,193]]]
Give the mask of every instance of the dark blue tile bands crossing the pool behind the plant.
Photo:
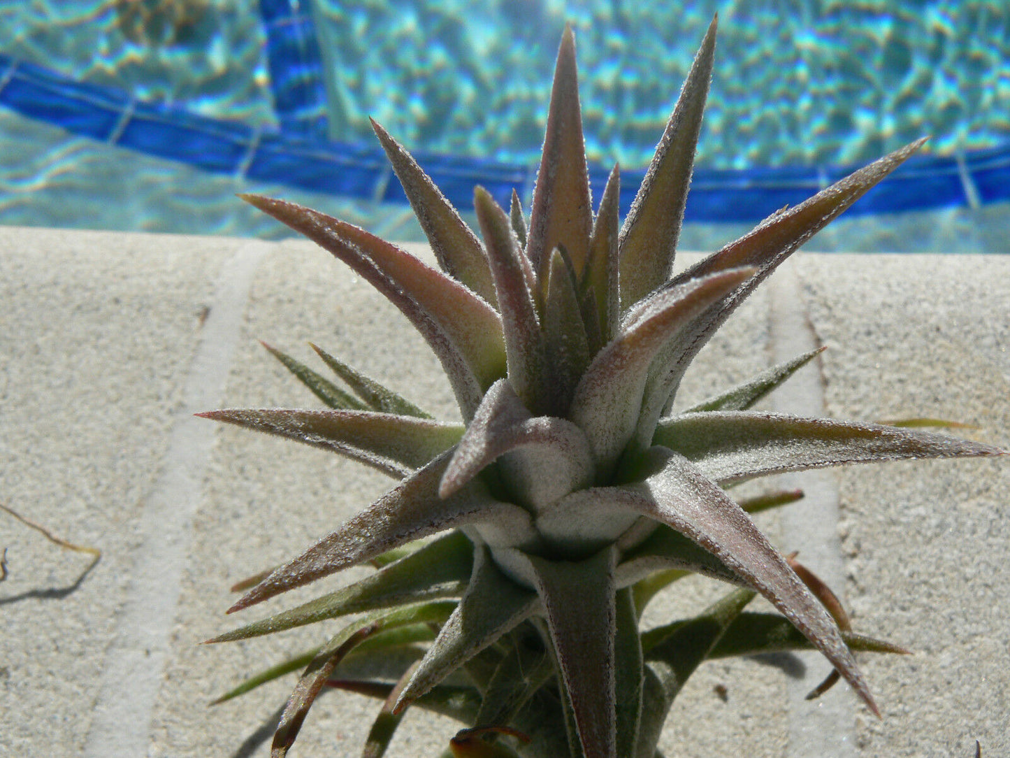
[[[302,11],[304,2],[300,6]],[[304,19],[291,15],[294,8],[291,2],[264,0],[261,8],[265,18],[270,15],[277,28],[304,32],[300,26]],[[283,15],[284,12],[288,15]],[[292,39],[294,36],[289,36],[286,43]],[[275,50],[277,70],[273,74],[280,83],[275,95],[279,103],[289,108],[287,115],[294,121],[282,121],[279,132],[259,133],[244,123],[201,116],[181,107],[135,101],[114,88],[75,81],[5,56],[0,56],[0,104],[76,134],[206,171],[244,175],[257,181],[316,192],[406,202],[403,189],[379,148],[331,143],[318,135],[324,120],[313,121],[308,108],[316,97],[311,56],[289,55],[283,45]],[[290,99],[284,100],[278,93]],[[291,125],[295,121],[297,127]],[[536,166],[476,158],[424,153],[416,157],[449,201],[461,208],[471,207],[474,186],[478,184],[502,205],[509,204],[513,189],[528,202],[537,171]],[[783,206],[803,202],[855,168],[701,169],[694,175],[685,220],[759,221]],[[643,171],[626,172],[622,176],[622,212],[630,207],[643,174]],[[597,202],[607,175],[608,171],[602,167],[590,169]],[[944,157],[913,157],[870,190],[848,213],[894,213],[1008,199],[1010,146],[1003,146],[966,154],[961,162]]]

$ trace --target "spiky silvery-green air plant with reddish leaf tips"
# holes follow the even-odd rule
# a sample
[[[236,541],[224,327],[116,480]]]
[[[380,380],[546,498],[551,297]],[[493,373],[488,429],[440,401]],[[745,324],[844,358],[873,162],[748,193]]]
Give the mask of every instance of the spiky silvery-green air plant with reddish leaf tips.
[[[237,587],[247,592],[230,611],[348,566],[378,568],[215,638],[356,614],[318,649],[222,698],[304,669],[275,756],[287,753],[322,689],[338,687],[384,700],[363,753],[373,758],[409,705],[467,725],[446,736],[448,755],[653,758],[674,697],[704,660],[802,647],[819,650],[877,713],[853,651],[901,649],[852,632],[830,591],[748,515],[798,493],[737,501],[727,488],[842,463],[1002,451],[918,429],[750,409],[817,351],[672,410],[685,370],[736,306],[921,145],[673,275],[714,48],[713,20],[623,225],[617,169],[592,211],[571,29],[528,222],[514,193],[507,212],[477,188],[482,243],[373,124],[440,271],[315,210],[245,198],[406,315],[440,360],[463,419],[435,420],[319,348],[338,381],[271,350],[328,409],[203,414],[332,450],[397,480],[302,555]],[[733,588],[697,617],[639,629],[649,599],[690,573]],[[781,615],[745,611],[756,593]],[[398,680],[341,674],[341,663],[393,650],[413,661]]]

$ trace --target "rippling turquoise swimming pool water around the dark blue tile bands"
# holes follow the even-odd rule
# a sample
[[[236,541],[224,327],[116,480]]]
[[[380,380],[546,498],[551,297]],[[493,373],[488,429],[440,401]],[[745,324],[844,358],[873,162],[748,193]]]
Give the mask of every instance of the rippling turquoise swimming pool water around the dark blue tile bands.
[[[265,23],[270,4],[0,2],[0,54],[265,133],[371,149],[372,115],[412,149],[535,169],[568,20],[578,37],[590,159],[627,169],[646,164],[718,10],[702,169],[860,163],[923,133],[938,156],[1010,144],[1005,2],[314,0],[309,20],[324,64],[322,94],[285,107]],[[288,74],[296,94],[299,77],[311,79],[311,72]],[[384,233],[417,233],[402,206],[209,174],[69,135],[6,108],[0,150],[2,223],[284,233],[233,197],[251,190],[322,206]],[[1007,230],[1002,206],[853,219],[813,247],[999,250]],[[733,231],[692,224],[684,243],[711,247]]]

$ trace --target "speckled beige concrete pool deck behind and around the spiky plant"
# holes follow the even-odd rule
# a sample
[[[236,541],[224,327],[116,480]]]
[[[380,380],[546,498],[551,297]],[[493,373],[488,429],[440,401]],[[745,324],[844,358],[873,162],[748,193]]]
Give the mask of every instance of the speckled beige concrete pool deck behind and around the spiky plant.
[[[263,728],[293,676],[207,703],[332,624],[198,643],[244,621],[223,613],[233,582],[389,480],[192,413],[317,405],[263,339],[306,362],[316,342],[451,417],[435,359],[371,287],[301,241],[0,227],[0,503],[102,551],[82,579],[88,556],[0,512],[0,755],[269,754]],[[1010,256],[800,253],[706,348],[684,395],[815,344],[828,350],[772,407],[956,419],[975,427],[964,436],[1010,448]],[[1010,755],[1010,459],[793,481],[807,499],[763,527],[828,579],[858,631],[915,655],[861,656],[880,721],[844,686],[803,700],[827,673],[816,656],[707,663],[675,705],[668,758],[971,758],[976,740],[987,758]],[[321,698],[292,755],[359,755],[377,708]],[[437,756],[459,728],[417,716],[391,758]]]

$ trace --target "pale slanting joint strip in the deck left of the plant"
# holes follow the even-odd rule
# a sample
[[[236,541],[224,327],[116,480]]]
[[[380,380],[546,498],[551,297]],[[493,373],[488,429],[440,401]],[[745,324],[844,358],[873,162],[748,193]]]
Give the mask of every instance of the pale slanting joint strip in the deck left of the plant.
[[[105,652],[87,758],[147,754],[150,720],[164,678],[192,517],[202,497],[214,424],[193,413],[221,404],[252,278],[270,245],[249,242],[221,267],[214,298],[186,377],[161,473],[143,503],[126,598]]]

